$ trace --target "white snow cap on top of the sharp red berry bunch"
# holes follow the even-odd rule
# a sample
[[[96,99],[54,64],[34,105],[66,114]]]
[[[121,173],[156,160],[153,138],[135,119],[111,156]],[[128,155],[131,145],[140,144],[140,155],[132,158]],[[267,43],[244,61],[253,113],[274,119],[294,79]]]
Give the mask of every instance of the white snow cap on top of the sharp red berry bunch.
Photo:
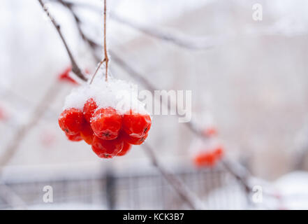
[[[63,109],[82,110],[85,102],[90,98],[94,99],[98,109],[110,106],[121,115],[130,110],[148,114],[145,104],[138,100],[137,85],[115,78],[108,78],[106,82],[103,77],[96,77],[93,83],[86,83],[73,89],[66,97]]]

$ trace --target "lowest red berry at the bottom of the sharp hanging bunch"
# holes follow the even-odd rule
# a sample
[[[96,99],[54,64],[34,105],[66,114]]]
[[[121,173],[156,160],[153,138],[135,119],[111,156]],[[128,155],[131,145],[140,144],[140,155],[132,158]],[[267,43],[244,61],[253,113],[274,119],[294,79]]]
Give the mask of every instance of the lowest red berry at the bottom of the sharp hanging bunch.
[[[92,150],[100,158],[112,158],[122,151],[124,141],[122,138],[114,140],[103,140],[98,137],[94,137],[92,142]]]

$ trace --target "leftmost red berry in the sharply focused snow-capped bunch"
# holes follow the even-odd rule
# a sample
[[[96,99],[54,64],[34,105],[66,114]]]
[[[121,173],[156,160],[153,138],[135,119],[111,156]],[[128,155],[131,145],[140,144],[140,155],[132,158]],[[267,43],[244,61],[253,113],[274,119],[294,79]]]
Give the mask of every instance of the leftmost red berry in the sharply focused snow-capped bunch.
[[[59,125],[61,130],[67,134],[78,134],[82,130],[82,125],[85,123],[82,111],[71,108],[66,109],[59,116]]]

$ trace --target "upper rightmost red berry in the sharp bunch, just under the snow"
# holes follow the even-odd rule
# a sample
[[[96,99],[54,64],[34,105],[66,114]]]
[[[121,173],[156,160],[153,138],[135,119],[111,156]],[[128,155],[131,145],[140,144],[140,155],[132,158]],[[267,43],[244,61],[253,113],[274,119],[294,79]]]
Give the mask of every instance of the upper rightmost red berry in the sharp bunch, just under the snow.
[[[147,114],[126,113],[123,117],[123,130],[131,137],[141,138],[149,132],[151,118]]]

